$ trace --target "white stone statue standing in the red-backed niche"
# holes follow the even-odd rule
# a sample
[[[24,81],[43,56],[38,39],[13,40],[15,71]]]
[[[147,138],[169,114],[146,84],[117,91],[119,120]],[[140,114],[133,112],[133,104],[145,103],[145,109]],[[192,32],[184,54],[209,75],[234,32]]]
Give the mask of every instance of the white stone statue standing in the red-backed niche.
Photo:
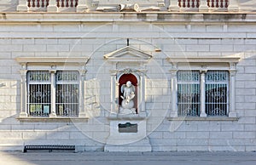
[[[120,114],[136,114],[136,108],[134,108],[133,98],[135,97],[135,87],[130,81],[127,81],[121,86],[122,98],[121,107],[119,109]]]

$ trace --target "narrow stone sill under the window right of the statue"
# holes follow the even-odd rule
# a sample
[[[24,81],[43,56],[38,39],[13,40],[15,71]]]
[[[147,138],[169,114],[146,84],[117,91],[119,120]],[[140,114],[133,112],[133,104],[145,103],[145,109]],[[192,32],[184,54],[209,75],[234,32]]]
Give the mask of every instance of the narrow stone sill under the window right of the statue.
[[[239,117],[166,117],[168,121],[234,121]]]

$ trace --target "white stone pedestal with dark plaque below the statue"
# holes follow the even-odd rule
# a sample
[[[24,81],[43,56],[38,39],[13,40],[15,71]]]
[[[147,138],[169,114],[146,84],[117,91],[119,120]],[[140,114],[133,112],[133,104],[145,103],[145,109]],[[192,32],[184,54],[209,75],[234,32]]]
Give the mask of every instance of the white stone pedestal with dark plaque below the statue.
[[[152,151],[147,137],[147,118],[139,114],[108,117],[110,133],[104,151]]]

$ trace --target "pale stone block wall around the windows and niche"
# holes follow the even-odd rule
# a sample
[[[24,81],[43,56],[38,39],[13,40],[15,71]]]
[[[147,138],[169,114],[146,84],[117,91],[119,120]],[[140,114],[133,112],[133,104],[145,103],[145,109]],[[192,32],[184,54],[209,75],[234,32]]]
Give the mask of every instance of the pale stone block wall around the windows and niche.
[[[42,16],[30,16],[37,20],[38,15]],[[131,47],[153,55],[146,65],[145,87],[149,114],[147,134],[153,151],[256,150],[256,26],[253,14],[247,14],[246,20],[240,20],[241,15],[236,14],[225,17],[195,14],[195,20],[189,20],[189,14],[184,14],[179,17],[182,20],[171,22],[143,22],[137,14],[131,14],[130,20],[110,21],[109,18],[90,22],[81,21],[73,14],[59,18],[69,16],[73,21],[58,22],[19,21],[21,16],[11,15],[7,17],[9,22],[0,25],[0,150],[21,150],[24,144],[75,144],[84,151],[102,151],[109,135],[109,70],[112,68],[103,55],[125,47],[126,38],[130,38]],[[97,14],[91,16],[101,18]],[[113,18],[119,16],[113,14]],[[173,15],[165,16],[171,18]],[[212,20],[211,16],[221,21]],[[15,58],[21,56],[90,57],[85,65],[84,83],[84,107],[89,118],[82,121],[18,120],[20,64]],[[239,120],[170,118],[171,65],[166,58],[171,56],[240,57],[236,73]]]

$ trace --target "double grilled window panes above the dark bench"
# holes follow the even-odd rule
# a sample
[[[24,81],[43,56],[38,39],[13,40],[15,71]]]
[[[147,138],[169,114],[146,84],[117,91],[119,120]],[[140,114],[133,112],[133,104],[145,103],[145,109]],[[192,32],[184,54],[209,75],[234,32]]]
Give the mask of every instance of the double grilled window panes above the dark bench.
[[[78,117],[79,71],[28,71],[27,110],[31,117]]]

